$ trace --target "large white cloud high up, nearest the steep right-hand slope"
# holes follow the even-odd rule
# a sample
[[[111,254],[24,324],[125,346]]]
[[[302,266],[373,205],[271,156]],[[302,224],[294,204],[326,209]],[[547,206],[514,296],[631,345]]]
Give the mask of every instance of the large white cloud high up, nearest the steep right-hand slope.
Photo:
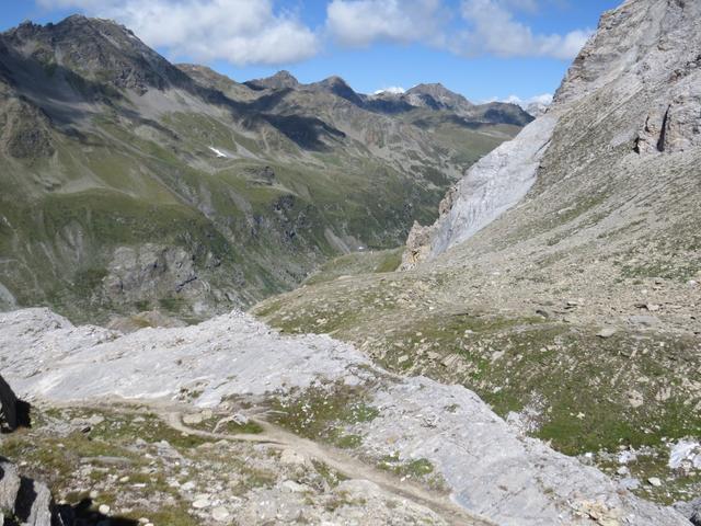
[[[516,0],[463,0],[461,14],[469,24],[452,46],[460,55],[496,55],[498,57],[574,58],[591,34],[577,30],[565,35],[535,34],[514,19],[509,7]],[[517,0],[521,9],[532,2]]]

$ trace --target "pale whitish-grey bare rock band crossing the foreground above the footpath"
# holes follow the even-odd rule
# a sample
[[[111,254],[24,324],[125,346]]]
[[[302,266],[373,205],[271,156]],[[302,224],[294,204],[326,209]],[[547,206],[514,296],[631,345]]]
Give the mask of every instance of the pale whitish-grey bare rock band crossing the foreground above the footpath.
[[[361,453],[429,460],[456,502],[498,524],[584,525],[597,516],[607,525],[688,526],[671,508],[524,438],[463,387],[397,377],[350,345],[283,336],[240,312],[126,335],[73,327],[46,309],[9,312],[0,315],[0,363],[20,396],[58,402],[175,399],[189,389],[199,393],[195,404],[212,407],[227,396],[279,396],[319,379],[364,384],[379,416],[357,424]]]

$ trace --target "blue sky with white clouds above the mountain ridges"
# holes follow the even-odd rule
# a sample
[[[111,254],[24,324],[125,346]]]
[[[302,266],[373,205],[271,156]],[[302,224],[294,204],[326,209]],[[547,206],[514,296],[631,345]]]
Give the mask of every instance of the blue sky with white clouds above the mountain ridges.
[[[0,30],[80,12],[129,26],[173,61],[234,80],[287,69],[369,93],[443,82],[473,101],[552,93],[621,0],[26,0]],[[8,5],[9,4],[9,5]]]

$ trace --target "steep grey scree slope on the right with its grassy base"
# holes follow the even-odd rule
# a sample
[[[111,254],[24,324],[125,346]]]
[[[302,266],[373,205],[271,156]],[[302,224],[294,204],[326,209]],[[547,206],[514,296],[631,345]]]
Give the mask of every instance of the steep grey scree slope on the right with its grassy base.
[[[413,230],[413,270],[253,311],[462,384],[639,494],[698,495],[692,465],[667,459],[701,436],[700,15],[667,0],[606,13],[549,112]]]

